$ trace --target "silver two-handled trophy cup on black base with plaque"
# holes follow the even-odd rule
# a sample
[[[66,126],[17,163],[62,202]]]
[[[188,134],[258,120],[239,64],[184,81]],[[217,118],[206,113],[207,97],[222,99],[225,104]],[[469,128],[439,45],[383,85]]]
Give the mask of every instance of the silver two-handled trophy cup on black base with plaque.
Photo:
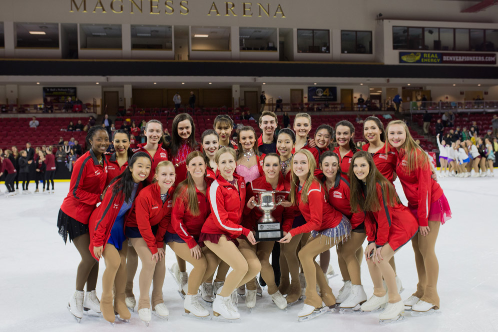
[[[271,215],[271,212],[282,202],[281,200],[275,201],[275,192],[260,191],[258,192],[258,203],[252,202],[263,212],[256,224],[256,241],[276,241],[283,237],[280,222]]]

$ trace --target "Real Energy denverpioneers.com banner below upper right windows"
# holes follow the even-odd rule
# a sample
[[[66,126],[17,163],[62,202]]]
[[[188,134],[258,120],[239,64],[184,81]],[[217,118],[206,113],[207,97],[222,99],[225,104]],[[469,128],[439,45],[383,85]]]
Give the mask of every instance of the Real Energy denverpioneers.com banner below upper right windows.
[[[399,52],[399,63],[496,64],[494,53]]]

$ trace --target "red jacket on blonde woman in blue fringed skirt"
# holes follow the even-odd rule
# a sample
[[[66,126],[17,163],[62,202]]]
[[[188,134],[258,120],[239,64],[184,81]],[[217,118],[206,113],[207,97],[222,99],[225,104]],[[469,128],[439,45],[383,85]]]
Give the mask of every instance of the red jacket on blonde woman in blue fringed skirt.
[[[297,191],[297,188],[296,188]],[[301,200],[301,191],[297,192],[297,206],[306,223],[290,231],[292,236],[308,233],[312,230],[324,230],[337,226],[342,220],[342,213],[334,209],[325,198],[325,187],[314,180],[308,189],[308,202]]]

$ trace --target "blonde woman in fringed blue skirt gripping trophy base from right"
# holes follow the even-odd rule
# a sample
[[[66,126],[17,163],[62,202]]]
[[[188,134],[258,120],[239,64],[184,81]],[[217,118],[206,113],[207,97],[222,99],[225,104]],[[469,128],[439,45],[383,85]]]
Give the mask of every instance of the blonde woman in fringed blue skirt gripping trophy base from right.
[[[298,319],[305,321],[325,313],[335,305],[335,297],[328,280],[314,258],[343,242],[351,232],[351,223],[341,212],[327,203],[323,184],[313,175],[316,162],[313,154],[301,149],[292,157],[290,202],[297,205],[306,223],[289,231],[279,242],[290,242],[292,236],[311,231],[306,245],[299,251],[299,259],[306,278],[306,299]],[[321,294],[316,291],[320,286]],[[322,308],[322,301],[326,307]]]

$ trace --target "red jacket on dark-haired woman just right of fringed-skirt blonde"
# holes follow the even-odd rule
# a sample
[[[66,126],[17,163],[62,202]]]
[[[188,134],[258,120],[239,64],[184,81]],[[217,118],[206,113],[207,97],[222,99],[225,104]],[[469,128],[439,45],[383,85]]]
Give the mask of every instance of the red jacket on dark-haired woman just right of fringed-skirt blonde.
[[[315,176],[323,183],[326,181],[325,175],[320,170],[319,173],[315,172]],[[354,229],[365,221],[364,212],[351,212],[351,205],[349,204],[350,190],[349,178],[345,174],[337,174],[335,177],[334,186],[328,190],[328,202],[333,208],[347,216],[351,221],[351,228]]]

